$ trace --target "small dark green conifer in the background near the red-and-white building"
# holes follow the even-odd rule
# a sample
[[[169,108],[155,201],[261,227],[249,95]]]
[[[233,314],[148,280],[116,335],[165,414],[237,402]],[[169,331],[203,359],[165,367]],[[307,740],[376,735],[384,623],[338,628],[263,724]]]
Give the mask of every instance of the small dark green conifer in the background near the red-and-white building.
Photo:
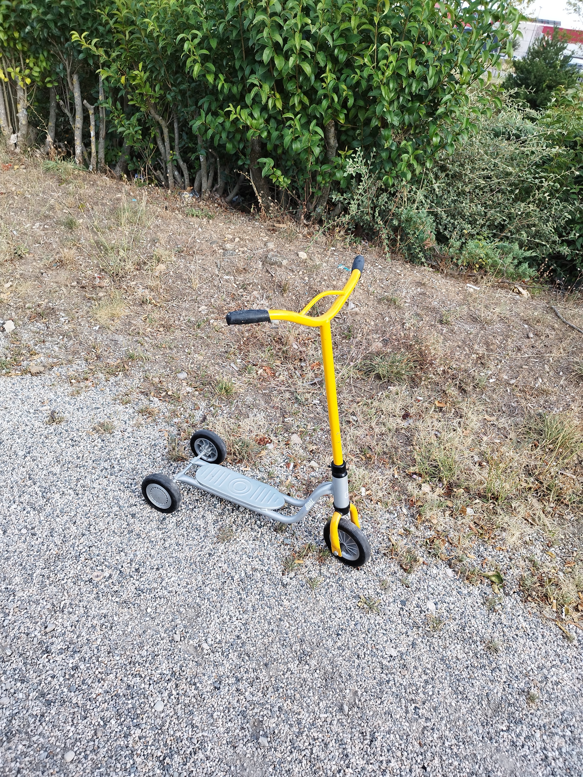
[[[552,38],[539,37],[525,57],[513,62],[513,72],[505,78],[504,88],[514,89],[515,96],[531,108],[546,108],[559,86],[571,89],[577,82],[577,68],[570,64],[571,54],[566,50],[567,40],[557,29]]]

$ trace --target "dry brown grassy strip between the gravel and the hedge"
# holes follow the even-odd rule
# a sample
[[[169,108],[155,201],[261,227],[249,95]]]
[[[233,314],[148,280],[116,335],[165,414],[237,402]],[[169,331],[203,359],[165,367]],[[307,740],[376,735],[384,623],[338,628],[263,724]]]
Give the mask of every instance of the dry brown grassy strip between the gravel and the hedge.
[[[221,322],[233,309],[301,309],[344,284],[338,265],[350,266],[362,246],[282,214],[261,219],[208,203],[191,216],[178,195],[66,162],[2,180],[0,318],[17,325],[3,339],[4,374],[26,371],[39,343],[64,340],[62,360],[86,359],[87,378],[107,378],[104,365],[124,360],[142,378],[141,415],[180,416],[171,455],[182,455],[200,424],[229,442],[231,462],[269,473],[283,455],[281,487],[310,490],[308,462],[330,458],[317,331]],[[267,241],[285,266],[264,263]],[[225,255],[226,243],[236,253]],[[540,587],[527,559],[551,543],[557,591],[578,594],[563,562],[581,546],[583,369],[580,339],[549,313],[555,298],[543,289],[519,300],[491,279],[386,263],[375,246],[365,256],[355,308],[333,322],[344,455],[363,524],[393,538],[403,573],[438,559],[469,583],[497,585],[487,556],[504,566],[508,553],[508,565],[523,564]],[[467,280],[480,291],[470,293]],[[176,380],[182,370],[186,387]],[[301,448],[288,447],[294,433]],[[567,596],[560,591],[556,598]]]

